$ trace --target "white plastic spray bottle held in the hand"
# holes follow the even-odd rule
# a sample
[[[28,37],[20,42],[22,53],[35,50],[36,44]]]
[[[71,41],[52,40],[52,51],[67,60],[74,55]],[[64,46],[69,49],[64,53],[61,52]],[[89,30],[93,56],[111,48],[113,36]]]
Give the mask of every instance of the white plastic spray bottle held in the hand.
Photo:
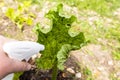
[[[44,50],[44,45],[31,41],[15,41],[4,44],[3,50],[10,58],[28,61],[31,56]],[[9,74],[2,80],[12,80],[14,74]]]

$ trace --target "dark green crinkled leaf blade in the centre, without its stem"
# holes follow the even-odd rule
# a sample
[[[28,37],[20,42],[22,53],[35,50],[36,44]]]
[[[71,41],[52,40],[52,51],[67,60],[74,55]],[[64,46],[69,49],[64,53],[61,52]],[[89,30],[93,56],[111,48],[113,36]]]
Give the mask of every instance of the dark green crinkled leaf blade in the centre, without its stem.
[[[43,69],[50,69],[57,62],[58,68],[63,70],[63,63],[69,51],[80,48],[80,44],[85,41],[84,35],[82,32],[75,36],[70,36],[68,33],[72,23],[76,21],[75,16],[62,17],[57,9],[57,11],[50,10],[45,17],[52,21],[52,28],[46,33],[41,30],[41,26],[36,26],[38,42],[45,45],[37,65]]]

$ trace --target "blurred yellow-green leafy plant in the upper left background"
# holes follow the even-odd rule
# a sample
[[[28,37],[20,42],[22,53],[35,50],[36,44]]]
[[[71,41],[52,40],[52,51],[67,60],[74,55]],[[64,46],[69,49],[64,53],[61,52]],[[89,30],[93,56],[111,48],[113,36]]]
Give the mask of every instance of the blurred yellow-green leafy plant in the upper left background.
[[[31,1],[24,1],[19,3],[17,9],[8,8],[6,11],[6,16],[17,25],[19,29],[23,29],[25,24],[31,26],[33,24],[33,18],[35,15],[28,12]],[[25,13],[25,14],[24,14]],[[27,14],[29,13],[29,14]]]

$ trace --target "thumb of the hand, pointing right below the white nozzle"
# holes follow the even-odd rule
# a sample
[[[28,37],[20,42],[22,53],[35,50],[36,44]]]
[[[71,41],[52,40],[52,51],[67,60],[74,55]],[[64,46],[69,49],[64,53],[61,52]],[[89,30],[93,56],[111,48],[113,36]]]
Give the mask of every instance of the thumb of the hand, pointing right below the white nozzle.
[[[13,60],[12,64],[12,72],[21,72],[21,71],[28,71],[32,68],[32,65],[27,62],[21,62],[19,60]]]

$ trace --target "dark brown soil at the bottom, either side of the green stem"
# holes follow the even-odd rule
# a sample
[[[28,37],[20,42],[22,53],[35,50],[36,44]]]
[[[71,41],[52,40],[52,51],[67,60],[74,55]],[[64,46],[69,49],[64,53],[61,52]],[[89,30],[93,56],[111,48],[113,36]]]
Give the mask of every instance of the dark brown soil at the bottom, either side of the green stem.
[[[24,72],[19,80],[52,80],[51,70],[31,70]],[[73,80],[73,77],[66,76],[66,72],[58,71],[56,80]]]

